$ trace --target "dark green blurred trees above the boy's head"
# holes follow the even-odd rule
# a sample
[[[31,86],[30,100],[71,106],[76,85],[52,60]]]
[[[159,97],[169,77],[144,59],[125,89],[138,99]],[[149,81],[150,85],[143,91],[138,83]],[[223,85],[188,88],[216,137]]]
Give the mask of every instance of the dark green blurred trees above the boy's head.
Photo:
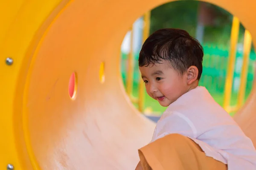
[[[185,29],[201,42],[228,45],[233,15],[223,8],[196,0],[166,3],[151,11],[151,33],[160,28]],[[240,26],[239,42],[244,27]]]

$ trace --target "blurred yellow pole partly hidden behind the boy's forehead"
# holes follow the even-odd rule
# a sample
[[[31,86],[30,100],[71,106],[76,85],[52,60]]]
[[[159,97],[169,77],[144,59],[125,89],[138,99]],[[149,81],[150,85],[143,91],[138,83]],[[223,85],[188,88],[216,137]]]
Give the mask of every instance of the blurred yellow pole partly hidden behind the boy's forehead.
[[[144,28],[143,28],[143,42],[148,38],[150,31],[150,11],[144,14]],[[140,112],[144,110],[144,83],[143,80],[140,78],[139,82],[139,102],[138,102],[138,109]]]

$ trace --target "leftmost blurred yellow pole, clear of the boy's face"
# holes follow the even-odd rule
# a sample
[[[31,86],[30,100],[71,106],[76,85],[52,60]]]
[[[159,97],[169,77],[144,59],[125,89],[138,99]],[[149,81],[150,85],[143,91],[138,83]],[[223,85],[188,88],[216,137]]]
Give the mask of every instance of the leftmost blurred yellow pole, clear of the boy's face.
[[[132,88],[133,88],[133,75],[134,75],[134,55],[133,55],[133,28],[131,28],[131,36],[130,36],[130,53],[128,55],[128,75],[126,79],[127,83],[127,94],[128,96],[132,96]]]

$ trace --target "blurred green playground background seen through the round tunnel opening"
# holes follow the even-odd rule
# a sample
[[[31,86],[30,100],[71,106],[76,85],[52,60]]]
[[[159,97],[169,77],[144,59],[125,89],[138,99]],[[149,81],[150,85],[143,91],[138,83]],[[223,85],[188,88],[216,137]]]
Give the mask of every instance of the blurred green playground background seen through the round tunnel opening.
[[[195,0],[158,6],[134,21],[125,35],[120,49],[120,69],[134,107],[149,116],[161,116],[166,109],[146,94],[138,68],[144,40],[160,28],[185,29],[201,42],[204,62],[199,84],[233,116],[253,86],[256,57],[250,32],[239,18],[223,8]]]

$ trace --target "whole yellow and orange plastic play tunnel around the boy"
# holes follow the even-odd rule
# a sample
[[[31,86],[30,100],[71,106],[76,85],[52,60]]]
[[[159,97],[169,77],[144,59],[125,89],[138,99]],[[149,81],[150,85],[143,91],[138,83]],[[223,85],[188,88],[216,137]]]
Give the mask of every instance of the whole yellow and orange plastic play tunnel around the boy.
[[[1,169],[136,167],[137,149],[150,141],[154,123],[125,95],[119,47],[137,17],[166,2],[1,3]],[[254,0],[207,2],[238,17],[255,42]],[[256,145],[255,100],[254,88],[234,118]]]

